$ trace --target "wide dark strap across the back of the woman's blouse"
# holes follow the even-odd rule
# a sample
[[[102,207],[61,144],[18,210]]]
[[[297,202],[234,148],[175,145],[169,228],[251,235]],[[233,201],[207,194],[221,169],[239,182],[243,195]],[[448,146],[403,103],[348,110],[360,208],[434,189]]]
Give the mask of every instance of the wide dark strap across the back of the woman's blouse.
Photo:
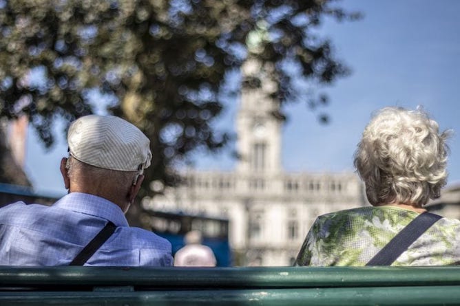
[[[391,265],[421,234],[441,218],[431,212],[421,213],[375,254],[366,265]]]

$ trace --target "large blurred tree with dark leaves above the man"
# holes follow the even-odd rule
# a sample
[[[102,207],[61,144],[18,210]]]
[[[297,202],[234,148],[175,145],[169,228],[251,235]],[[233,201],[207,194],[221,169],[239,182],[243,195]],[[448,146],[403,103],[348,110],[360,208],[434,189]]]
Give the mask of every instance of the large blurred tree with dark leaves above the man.
[[[318,84],[347,73],[313,31],[324,16],[358,17],[332,2],[0,0],[0,118],[26,114],[50,146],[56,118],[70,122],[106,105],[150,138],[146,182],[173,184],[171,164],[229,140],[211,122],[231,94],[228,74],[250,54],[274,67],[282,103],[297,94],[286,63]]]

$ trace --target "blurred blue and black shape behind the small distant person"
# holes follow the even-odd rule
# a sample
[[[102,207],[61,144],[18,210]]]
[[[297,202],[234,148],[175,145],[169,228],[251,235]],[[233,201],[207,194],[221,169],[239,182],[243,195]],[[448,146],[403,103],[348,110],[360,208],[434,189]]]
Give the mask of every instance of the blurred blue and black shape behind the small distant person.
[[[185,234],[190,230],[199,230],[202,233],[202,244],[209,246],[216,256],[217,266],[232,265],[228,219],[185,215],[180,212],[147,211],[142,221],[148,223],[158,236],[171,242],[173,256],[185,245]]]

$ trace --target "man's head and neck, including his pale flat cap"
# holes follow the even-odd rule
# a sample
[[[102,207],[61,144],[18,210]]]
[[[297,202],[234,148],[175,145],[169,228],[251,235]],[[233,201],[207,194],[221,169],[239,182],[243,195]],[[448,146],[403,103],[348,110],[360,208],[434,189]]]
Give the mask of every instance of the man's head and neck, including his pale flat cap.
[[[69,157],[61,160],[65,188],[112,201],[126,212],[150,165],[149,140],[115,116],[84,116],[67,133]]]

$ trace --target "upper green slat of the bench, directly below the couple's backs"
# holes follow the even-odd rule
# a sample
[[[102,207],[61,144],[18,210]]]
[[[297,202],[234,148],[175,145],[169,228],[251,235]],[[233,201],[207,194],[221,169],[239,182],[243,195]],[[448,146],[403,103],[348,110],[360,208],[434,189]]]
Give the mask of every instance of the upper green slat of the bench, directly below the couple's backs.
[[[459,285],[460,267],[1,267],[0,288],[382,287]]]

